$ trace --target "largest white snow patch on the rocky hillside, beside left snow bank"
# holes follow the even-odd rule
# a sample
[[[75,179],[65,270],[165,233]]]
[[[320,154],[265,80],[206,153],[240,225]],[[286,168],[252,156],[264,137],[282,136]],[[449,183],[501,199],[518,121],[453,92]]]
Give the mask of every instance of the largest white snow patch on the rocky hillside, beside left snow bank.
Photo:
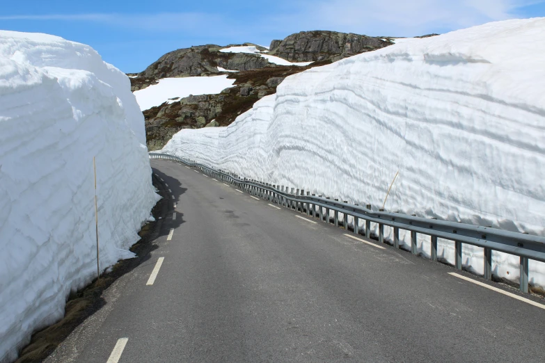
[[[235,79],[223,76],[183,77],[159,79],[159,83],[134,92],[141,111],[164,102],[172,103],[173,98],[189,95],[216,95],[235,83]]]

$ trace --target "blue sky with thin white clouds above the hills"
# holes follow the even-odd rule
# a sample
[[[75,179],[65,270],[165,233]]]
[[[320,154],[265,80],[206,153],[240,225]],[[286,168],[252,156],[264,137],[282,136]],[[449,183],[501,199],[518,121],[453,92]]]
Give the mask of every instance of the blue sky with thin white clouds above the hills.
[[[3,1],[0,29],[82,42],[123,72],[140,72],[191,45],[268,46],[309,30],[414,36],[544,16],[545,0],[17,0]]]

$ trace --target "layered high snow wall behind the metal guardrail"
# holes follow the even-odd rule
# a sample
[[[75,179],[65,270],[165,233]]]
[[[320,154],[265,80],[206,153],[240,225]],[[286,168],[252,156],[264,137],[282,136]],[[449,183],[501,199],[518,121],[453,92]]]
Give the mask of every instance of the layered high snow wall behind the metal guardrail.
[[[400,42],[289,76],[229,127],[182,130],[163,151],[374,209],[399,170],[388,211],[545,235],[544,61],[545,18]],[[453,263],[454,243],[438,255]],[[464,245],[466,268],[482,273],[482,257]],[[493,252],[493,274],[517,281],[519,258]],[[545,287],[544,264],[530,261],[530,283]]]

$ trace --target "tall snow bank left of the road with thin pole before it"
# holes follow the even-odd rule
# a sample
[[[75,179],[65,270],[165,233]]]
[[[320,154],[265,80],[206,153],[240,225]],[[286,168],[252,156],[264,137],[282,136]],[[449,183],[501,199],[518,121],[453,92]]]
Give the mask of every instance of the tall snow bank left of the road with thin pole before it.
[[[0,31],[0,362],[64,314],[158,199],[129,79],[86,45]]]

